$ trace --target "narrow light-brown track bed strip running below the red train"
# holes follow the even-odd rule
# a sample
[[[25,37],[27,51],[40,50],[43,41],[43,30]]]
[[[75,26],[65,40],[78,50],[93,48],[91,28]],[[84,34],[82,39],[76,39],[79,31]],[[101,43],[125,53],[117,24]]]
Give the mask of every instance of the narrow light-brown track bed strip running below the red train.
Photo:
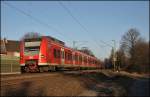
[[[23,74],[13,74],[13,75],[2,75],[1,81],[9,81],[9,80],[21,80],[21,79],[30,79],[37,77],[46,77],[46,76],[57,76],[58,74],[82,74],[82,73],[95,73],[102,72],[109,77],[114,77],[116,75],[130,75],[130,77],[134,77],[131,74],[127,74],[124,72],[105,72],[104,70],[78,70],[78,71],[57,71],[57,72],[43,72],[43,73],[23,73]],[[112,74],[113,73],[113,74]]]

